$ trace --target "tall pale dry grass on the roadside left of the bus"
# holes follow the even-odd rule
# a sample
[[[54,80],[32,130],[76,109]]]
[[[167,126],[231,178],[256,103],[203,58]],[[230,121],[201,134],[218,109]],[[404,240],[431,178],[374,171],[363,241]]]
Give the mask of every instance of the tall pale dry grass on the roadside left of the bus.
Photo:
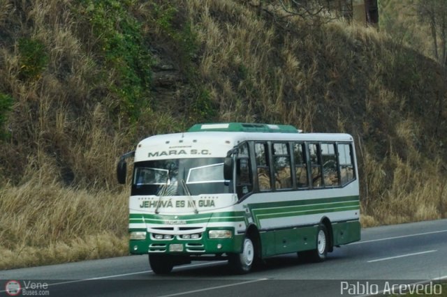
[[[129,192],[67,188],[51,160],[29,164],[24,183],[0,189],[0,269],[126,254]]]

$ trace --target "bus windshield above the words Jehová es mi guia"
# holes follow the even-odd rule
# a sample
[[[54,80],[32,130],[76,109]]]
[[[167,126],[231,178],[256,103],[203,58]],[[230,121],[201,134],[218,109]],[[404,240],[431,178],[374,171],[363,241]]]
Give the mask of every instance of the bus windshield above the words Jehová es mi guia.
[[[184,196],[228,193],[223,158],[136,162],[131,195]]]

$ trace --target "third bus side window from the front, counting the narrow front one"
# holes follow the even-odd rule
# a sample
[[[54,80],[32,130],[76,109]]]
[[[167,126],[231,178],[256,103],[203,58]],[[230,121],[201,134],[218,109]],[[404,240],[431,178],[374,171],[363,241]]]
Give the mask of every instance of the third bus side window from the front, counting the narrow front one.
[[[275,188],[292,188],[291,153],[287,143],[273,144],[273,166]]]

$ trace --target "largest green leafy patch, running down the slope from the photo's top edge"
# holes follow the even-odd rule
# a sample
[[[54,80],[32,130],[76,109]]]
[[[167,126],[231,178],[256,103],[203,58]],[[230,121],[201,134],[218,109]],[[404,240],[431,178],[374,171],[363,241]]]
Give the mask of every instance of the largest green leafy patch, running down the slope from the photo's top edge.
[[[78,4],[80,21],[96,38],[92,51],[97,55],[101,73],[98,79],[113,79],[107,91],[115,97],[114,114],[127,116],[135,123],[150,109],[152,59],[142,23],[129,14],[137,1],[85,0]]]

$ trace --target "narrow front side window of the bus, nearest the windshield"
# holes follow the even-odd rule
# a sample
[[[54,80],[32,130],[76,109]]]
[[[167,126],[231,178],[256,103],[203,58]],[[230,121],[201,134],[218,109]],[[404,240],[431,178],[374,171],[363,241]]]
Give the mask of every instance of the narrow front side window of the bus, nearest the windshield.
[[[249,162],[249,148],[247,142],[239,147],[236,161],[236,192],[241,198],[253,190]]]

